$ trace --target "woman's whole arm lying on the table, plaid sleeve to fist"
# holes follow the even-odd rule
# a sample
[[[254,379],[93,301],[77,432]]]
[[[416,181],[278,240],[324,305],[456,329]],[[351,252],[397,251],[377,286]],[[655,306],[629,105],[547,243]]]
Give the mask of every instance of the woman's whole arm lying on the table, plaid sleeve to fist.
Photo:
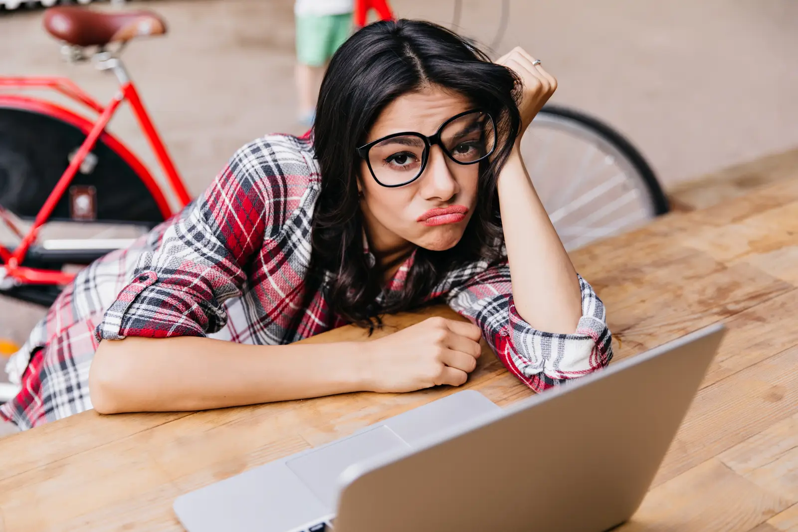
[[[226,323],[223,303],[242,294],[253,254],[275,245],[269,236],[280,233],[279,213],[290,211],[284,175],[302,161],[279,137],[247,144],[172,221],[157,249],[139,258],[132,281],[97,326],[101,342],[89,388],[98,412],[221,408],[465,382],[476,367],[480,331],[443,319],[365,344],[239,345],[205,337]]]

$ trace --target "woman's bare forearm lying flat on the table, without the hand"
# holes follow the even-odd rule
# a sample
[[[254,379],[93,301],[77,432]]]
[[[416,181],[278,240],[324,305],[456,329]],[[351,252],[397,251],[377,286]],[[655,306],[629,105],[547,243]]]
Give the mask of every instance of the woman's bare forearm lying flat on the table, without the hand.
[[[243,345],[202,337],[102,341],[89,373],[104,414],[170,412],[365,389],[362,344]]]

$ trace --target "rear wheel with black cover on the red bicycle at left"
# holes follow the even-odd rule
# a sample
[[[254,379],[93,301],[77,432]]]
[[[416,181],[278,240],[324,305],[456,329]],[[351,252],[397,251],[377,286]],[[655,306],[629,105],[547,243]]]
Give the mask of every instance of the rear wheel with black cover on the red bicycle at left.
[[[0,242],[13,250],[30,229],[69,160],[85,139],[74,124],[24,108],[0,105]],[[63,270],[85,266],[129,245],[164,221],[164,213],[137,171],[101,136],[59,199],[22,266]],[[2,261],[0,261],[2,264]],[[0,294],[50,305],[60,287],[15,286],[0,279]]]

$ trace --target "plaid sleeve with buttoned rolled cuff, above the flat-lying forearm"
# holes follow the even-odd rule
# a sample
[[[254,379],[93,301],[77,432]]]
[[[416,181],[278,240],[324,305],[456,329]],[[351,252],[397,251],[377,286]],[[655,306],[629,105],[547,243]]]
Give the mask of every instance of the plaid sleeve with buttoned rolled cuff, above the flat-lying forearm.
[[[227,323],[223,302],[241,295],[244,267],[271,223],[263,175],[268,165],[255,149],[236,152],[154,250],[140,255],[131,281],[97,326],[97,340],[205,336]]]

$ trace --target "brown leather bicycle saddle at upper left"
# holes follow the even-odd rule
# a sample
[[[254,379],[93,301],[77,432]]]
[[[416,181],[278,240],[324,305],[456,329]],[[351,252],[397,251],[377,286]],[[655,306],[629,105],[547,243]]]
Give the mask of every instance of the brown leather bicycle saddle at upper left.
[[[104,13],[80,6],[51,7],[45,11],[44,25],[53,37],[76,46],[102,46],[166,33],[164,19],[148,10]]]

